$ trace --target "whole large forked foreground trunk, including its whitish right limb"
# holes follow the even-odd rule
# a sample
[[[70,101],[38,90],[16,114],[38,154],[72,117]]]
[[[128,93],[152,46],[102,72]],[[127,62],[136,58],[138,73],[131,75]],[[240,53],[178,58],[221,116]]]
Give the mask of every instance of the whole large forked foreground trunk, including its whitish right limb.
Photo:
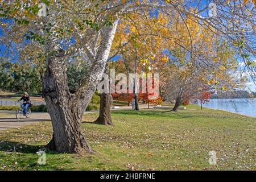
[[[93,153],[82,134],[81,119],[105,70],[117,23],[116,20],[113,26],[104,28],[101,44],[88,77],[75,94],[71,94],[68,88],[65,51],[60,48],[56,36],[47,40],[43,94],[53,127],[53,137],[47,145],[51,150]]]

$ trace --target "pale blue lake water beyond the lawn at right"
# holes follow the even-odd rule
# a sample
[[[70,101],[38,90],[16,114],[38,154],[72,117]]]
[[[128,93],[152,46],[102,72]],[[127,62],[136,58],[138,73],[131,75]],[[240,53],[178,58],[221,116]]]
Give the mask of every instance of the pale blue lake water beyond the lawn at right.
[[[256,100],[250,100],[249,98],[210,99],[210,102],[203,104],[203,106],[212,109],[222,109],[256,117]]]

